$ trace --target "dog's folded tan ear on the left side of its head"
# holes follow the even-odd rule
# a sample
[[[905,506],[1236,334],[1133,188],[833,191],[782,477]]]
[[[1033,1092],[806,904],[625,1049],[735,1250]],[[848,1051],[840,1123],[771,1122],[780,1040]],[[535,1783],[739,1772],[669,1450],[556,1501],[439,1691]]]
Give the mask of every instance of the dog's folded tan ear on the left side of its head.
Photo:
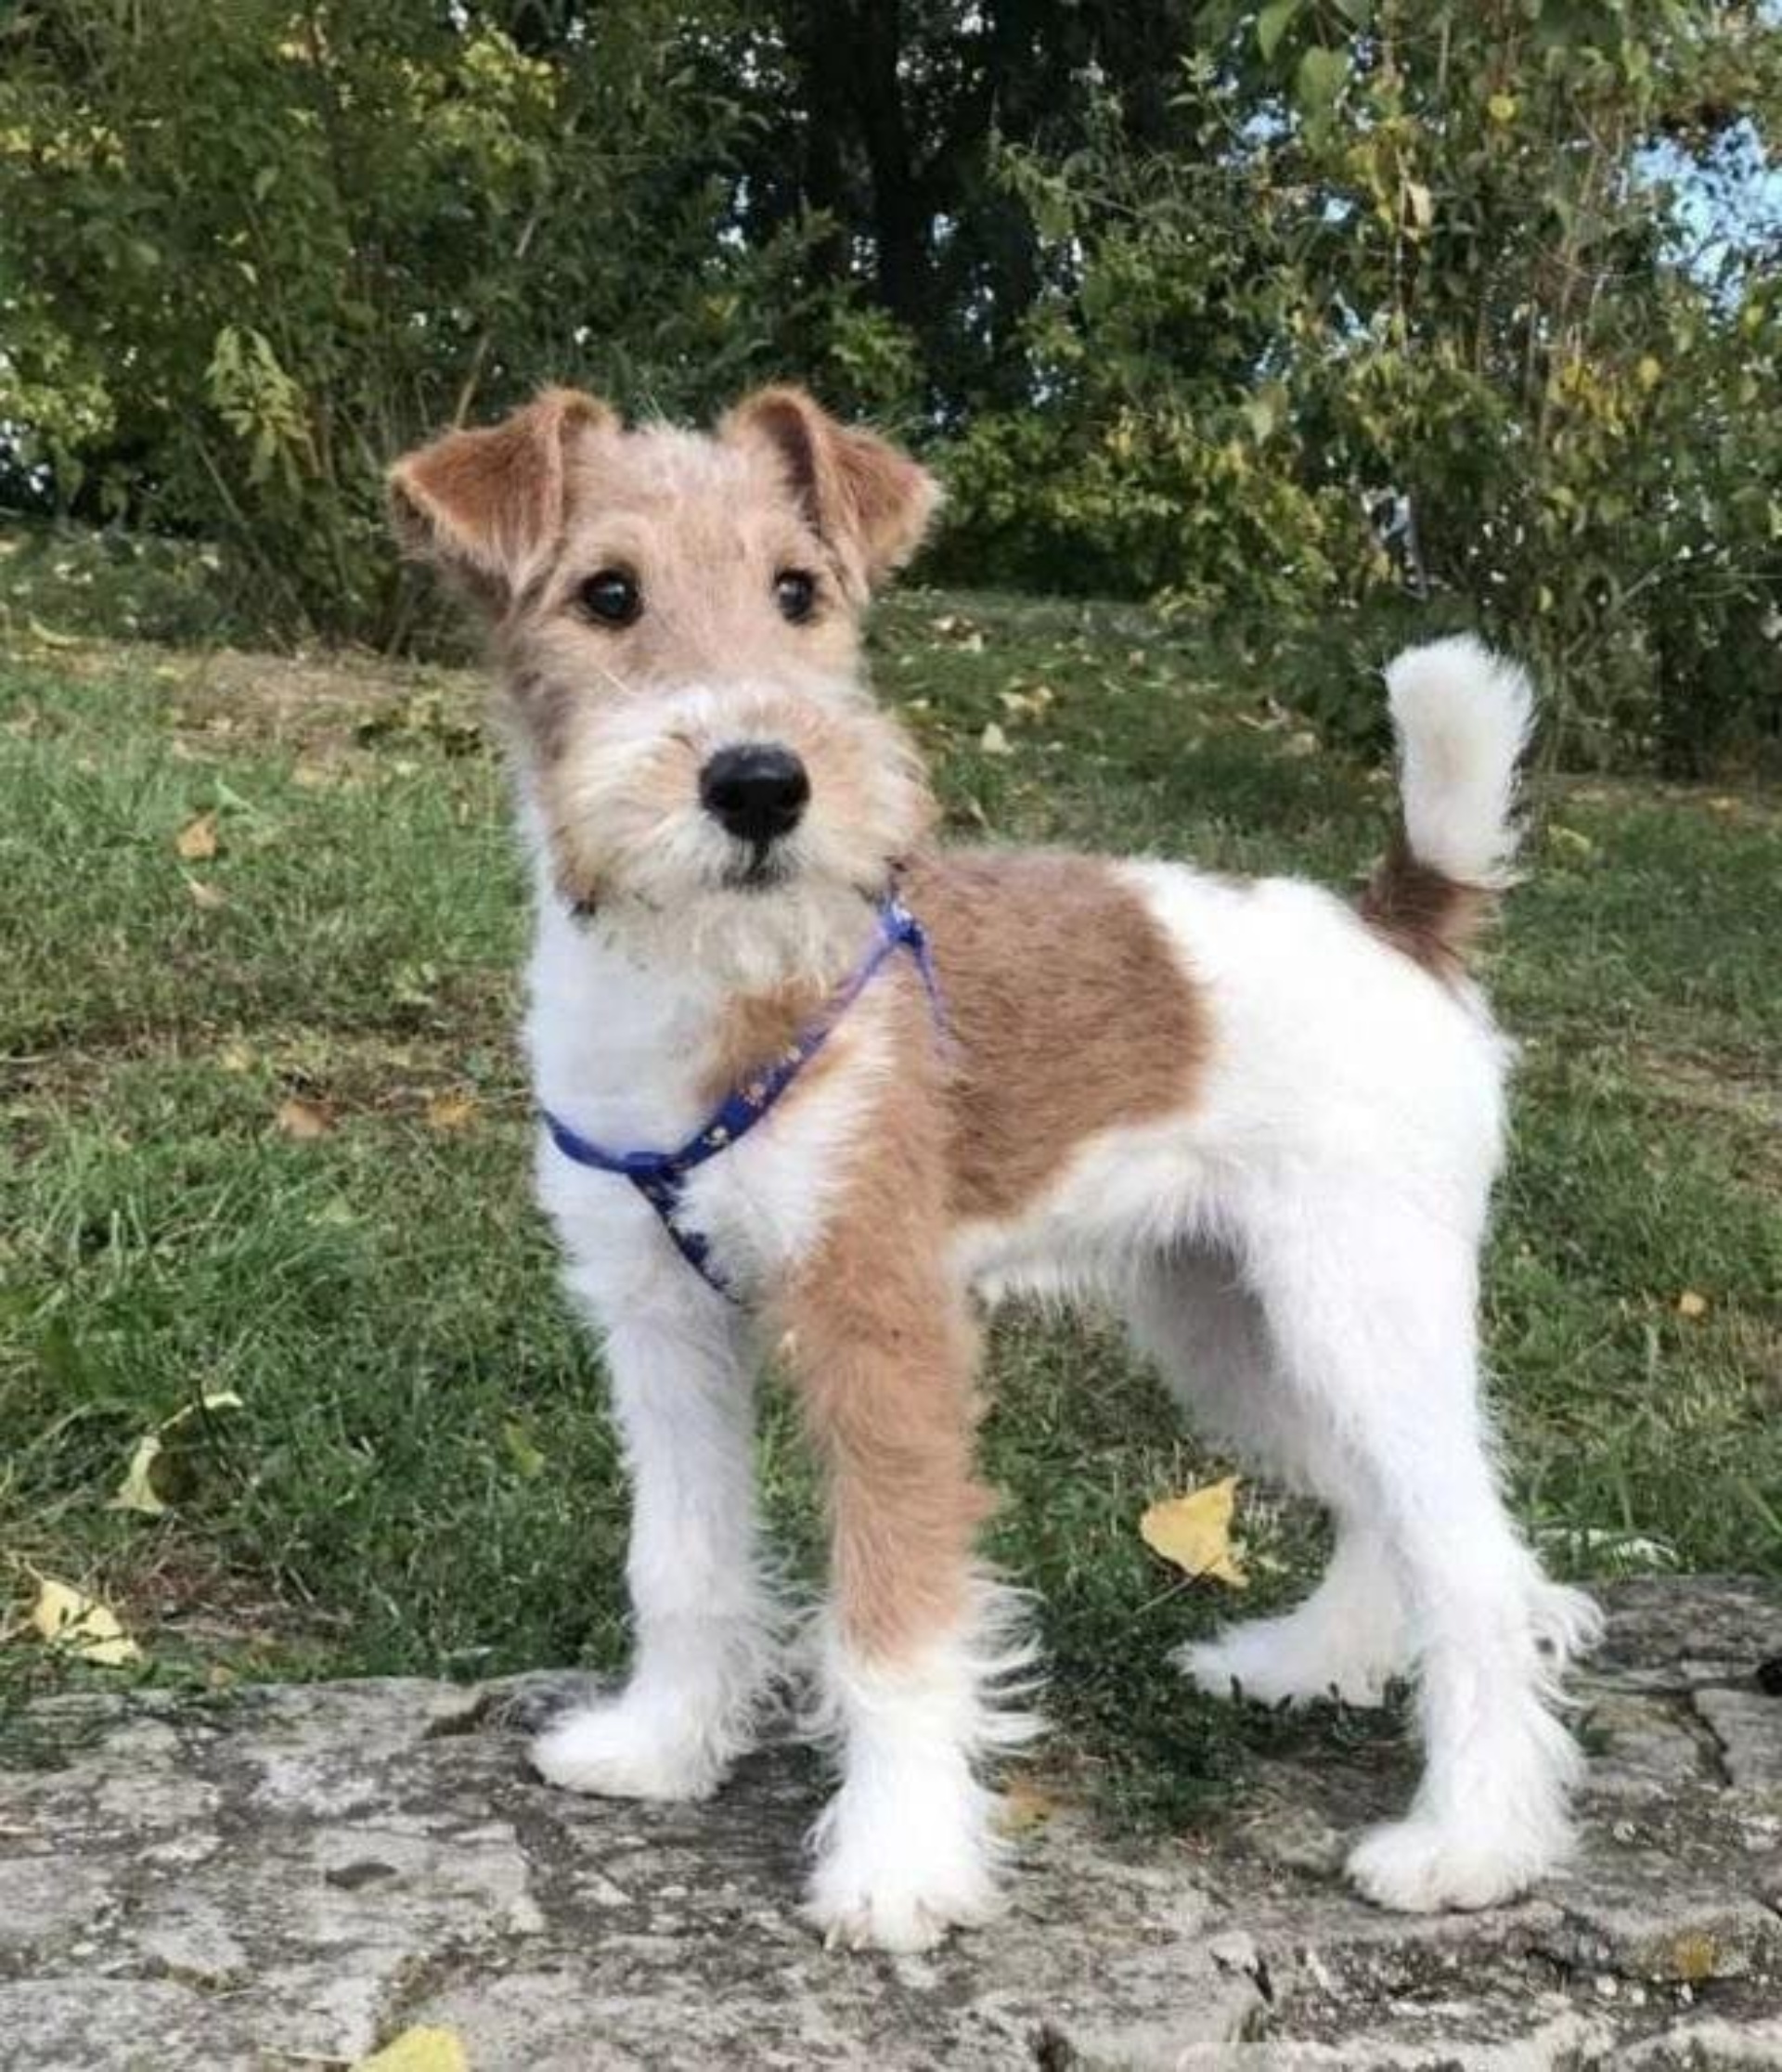
[[[402,551],[437,562],[489,611],[545,566],[568,516],[568,456],[617,416],[580,390],[545,390],[483,431],[448,431],[390,470]]]

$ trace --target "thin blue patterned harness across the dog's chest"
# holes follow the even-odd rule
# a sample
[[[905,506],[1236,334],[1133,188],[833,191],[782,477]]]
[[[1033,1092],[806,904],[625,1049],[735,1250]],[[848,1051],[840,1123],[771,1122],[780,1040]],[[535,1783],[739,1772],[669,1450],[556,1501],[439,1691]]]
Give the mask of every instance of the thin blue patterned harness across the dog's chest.
[[[928,992],[928,1005],[935,1011],[935,1026],[945,1030],[947,1015],[941,1003],[941,980],[935,974],[935,957],[928,949],[928,937],[922,930],[922,922],[903,905],[895,895],[887,897],[879,905],[879,928],[872,937],[872,947],[860,959],[854,976],[829,1003],[823,1015],[802,1030],[800,1036],[779,1053],[779,1057],[754,1080],[744,1086],[736,1086],[725,1094],[713,1117],[696,1129],[680,1150],[673,1152],[609,1152],[599,1144],[591,1144],[586,1138],[562,1123],[549,1109],[541,1111],[545,1119],[545,1129],[551,1131],[551,1142],[557,1150],[572,1158],[576,1164],[593,1167],[597,1173],[617,1173],[628,1179],[638,1193],[651,1204],[651,1208],[661,1216],[663,1229],[673,1239],[680,1256],[692,1266],[692,1270],[707,1283],[707,1287],[717,1289],[729,1301],[736,1301],[729,1280],[717,1270],[711,1258],[711,1243],[700,1231],[682,1229],[680,1204],[686,1193],[688,1175],[694,1167],[702,1167],[707,1158],[717,1158],[719,1152],[727,1152],[738,1138],[746,1138],[750,1129],[773,1109],[779,1096],[792,1086],[792,1082],[804,1071],[804,1067],[816,1057],[816,1053],[829,1042],[829,1034],[835,1024],[847,1013],[847,1009],[860,999],[860,995],[872,984],[879,972],[897,955],[899,949],[908,949],[916,959],[916,970],[922,974],[922,986]]]

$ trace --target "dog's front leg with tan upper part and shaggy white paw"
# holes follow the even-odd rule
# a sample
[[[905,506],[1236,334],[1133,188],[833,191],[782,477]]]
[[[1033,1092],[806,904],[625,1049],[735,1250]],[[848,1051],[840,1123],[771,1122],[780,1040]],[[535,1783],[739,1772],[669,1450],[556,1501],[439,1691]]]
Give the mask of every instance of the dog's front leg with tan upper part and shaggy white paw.
[[[792,1303],[789,1359],[829,1471],[831,1604],[818,1666],[841,1786],[818,1821],[808,1912],[831,1941],[924,1950],[995,1904],[978,1774],[1019,1724],[990,1709],[1019,1649],[972,1573],[988,1508],[972,1475],[974,1332],[939,1262],[879,1227]],[[901,1237],[903,1233],[897,1233]]]

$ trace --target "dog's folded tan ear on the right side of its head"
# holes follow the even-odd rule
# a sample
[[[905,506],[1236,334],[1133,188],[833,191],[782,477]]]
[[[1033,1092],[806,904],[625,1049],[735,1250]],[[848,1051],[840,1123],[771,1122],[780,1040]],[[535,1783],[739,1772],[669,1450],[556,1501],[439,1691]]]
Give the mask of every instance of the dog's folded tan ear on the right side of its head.
[[[812,526],[852,564],[866,588],[922,545],[941,485],[870,431],[837,425],[800,387],[746,396],[719,425],[725,439],[769,445]]]

